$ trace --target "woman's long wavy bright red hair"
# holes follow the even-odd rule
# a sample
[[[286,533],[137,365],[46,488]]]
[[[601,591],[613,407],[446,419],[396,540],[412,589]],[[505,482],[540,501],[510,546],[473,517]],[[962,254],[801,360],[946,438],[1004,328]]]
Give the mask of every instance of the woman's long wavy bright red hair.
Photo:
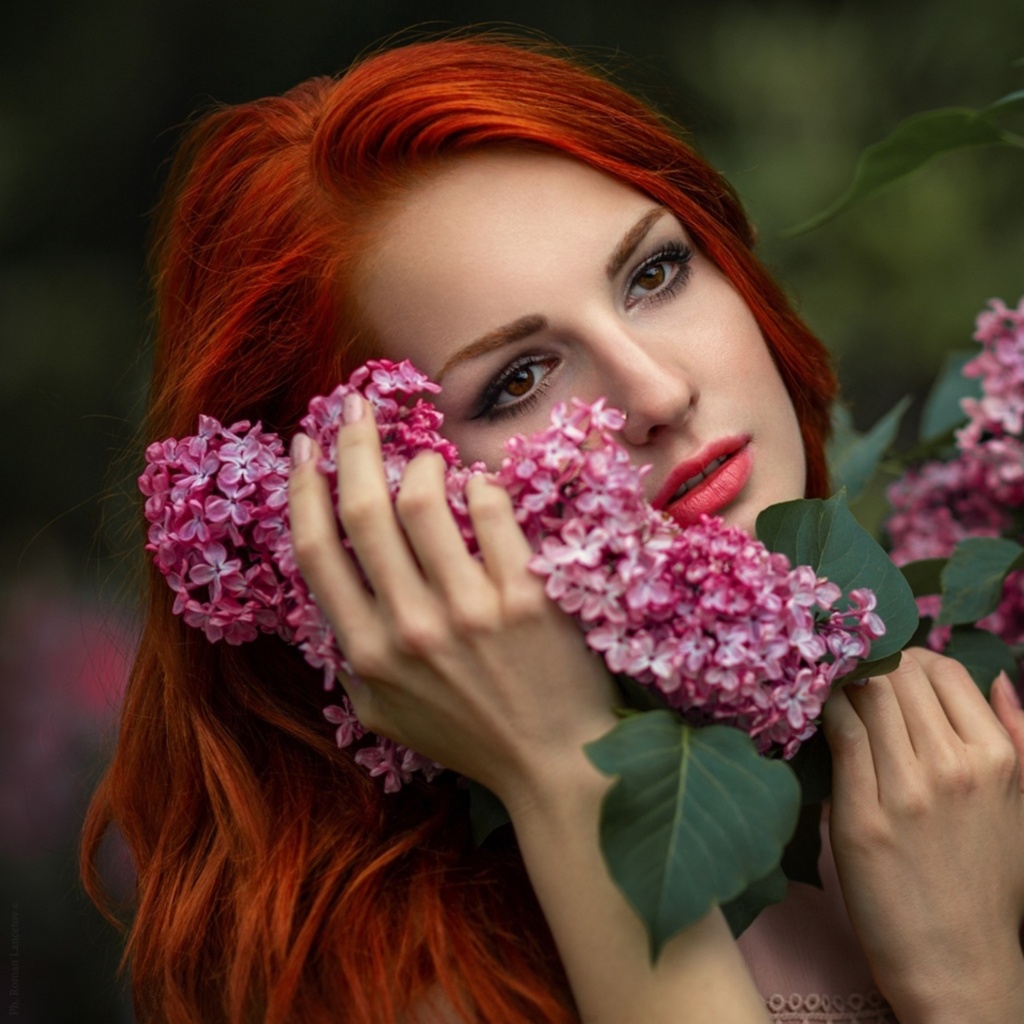
[[[201,413],[290,436],[370,354],[345,283],[374,215],[438,162],[528,144],[670,209],[754,311],[826,488],[835,382],[752,252],[726,182],[642,103],[570,60],[485,37],[418,43],[339,79],[215,111],[173,165],[154,246],[151,437]],[[318,674],[275,638],[210,644],[151,570],[148,614],[83,863],[113,822],[137,872],[140,1019],[567,1022],[571,996],[514,848],[476,849],[451,783],[382,795],[338,751]]]

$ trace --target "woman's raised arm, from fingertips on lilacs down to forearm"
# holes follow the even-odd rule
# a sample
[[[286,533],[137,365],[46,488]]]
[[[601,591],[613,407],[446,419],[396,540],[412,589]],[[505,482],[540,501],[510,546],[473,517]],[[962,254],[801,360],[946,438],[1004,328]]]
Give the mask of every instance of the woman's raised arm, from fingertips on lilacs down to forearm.
[[[609,782],[582,751],[614,724],[612,683],[526,568],[508,496],[472,481],[482,562],[471,558],[444,501],[440,460],[411,464],[392,510],[373,420],[348,412],[339,514],[374,593],[338,543],[312,461],[293,468],[291,521],[298,563],[359,674],[349,683],[359,718],[505,803],[588,1024],[765,1021],[717,910],[650,965],[644,930],[598,847]],[[301,454],[300,443],[297,462]]]

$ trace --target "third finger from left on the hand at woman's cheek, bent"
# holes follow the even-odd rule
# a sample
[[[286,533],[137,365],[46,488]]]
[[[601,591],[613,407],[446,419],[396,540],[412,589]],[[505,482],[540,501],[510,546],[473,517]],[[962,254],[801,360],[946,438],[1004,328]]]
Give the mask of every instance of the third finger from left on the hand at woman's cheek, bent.
[[[410,547],[427,578],[449,599],[465,598],[486,583],[480,563],[463,540],[444,487],[444,460],[418,455],[406,469],[395,501]]]

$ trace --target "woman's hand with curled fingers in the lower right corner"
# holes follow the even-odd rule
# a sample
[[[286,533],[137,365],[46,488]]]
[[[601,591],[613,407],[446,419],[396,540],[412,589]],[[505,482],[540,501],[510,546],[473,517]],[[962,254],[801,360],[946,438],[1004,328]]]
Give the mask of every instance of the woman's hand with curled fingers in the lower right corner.
[[[840,882],[900,1021],[1024,1020],[1020,760],[967,671],[905,651],[831,697],[825,733]]]

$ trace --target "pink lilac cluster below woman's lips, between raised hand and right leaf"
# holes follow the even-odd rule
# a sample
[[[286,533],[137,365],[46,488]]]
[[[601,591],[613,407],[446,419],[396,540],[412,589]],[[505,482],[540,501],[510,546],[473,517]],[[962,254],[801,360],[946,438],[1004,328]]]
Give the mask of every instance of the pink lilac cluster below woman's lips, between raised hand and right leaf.
[[[702,516],[683,530],[643,497],[600,399],[555,411],[508,442],[499,480],[536,551],[548,596],[575,616],[616,674],[694,723],[725,722],[762,753],[791,757],[817,728],[833,684],[885,624],[876,598],[791,568],[743,530]]]

